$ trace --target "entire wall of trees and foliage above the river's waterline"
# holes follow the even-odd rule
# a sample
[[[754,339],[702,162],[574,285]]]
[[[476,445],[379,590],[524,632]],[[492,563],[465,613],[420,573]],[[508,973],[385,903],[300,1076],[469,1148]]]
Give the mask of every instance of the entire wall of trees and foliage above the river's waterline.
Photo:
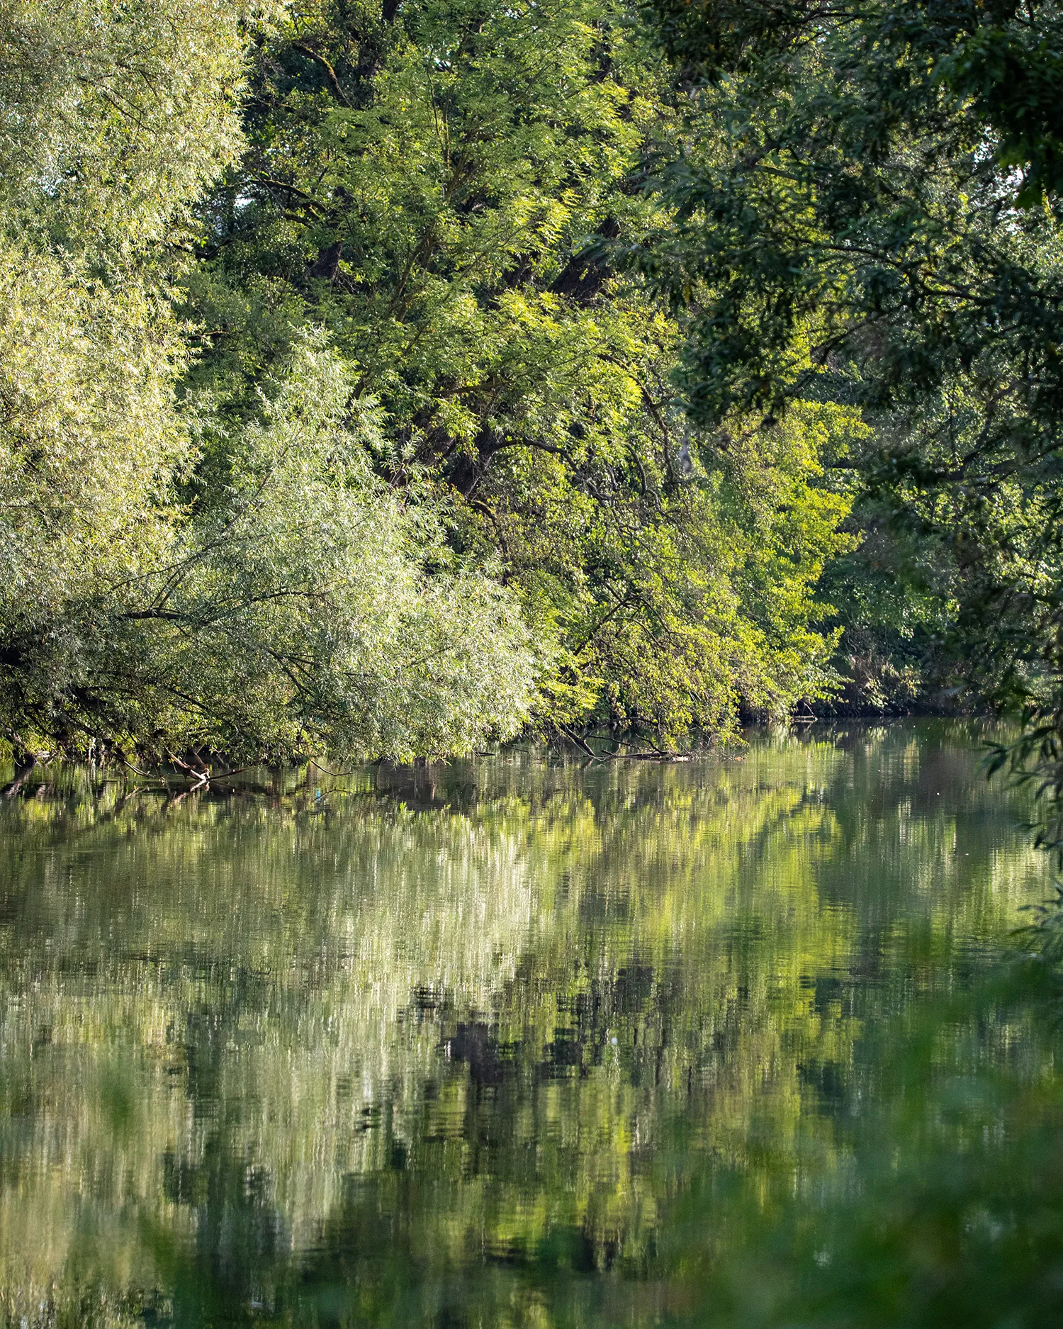
[[[8,739],[671,746],[966,688],[1051,764],[1059,24],[7,7]]]

